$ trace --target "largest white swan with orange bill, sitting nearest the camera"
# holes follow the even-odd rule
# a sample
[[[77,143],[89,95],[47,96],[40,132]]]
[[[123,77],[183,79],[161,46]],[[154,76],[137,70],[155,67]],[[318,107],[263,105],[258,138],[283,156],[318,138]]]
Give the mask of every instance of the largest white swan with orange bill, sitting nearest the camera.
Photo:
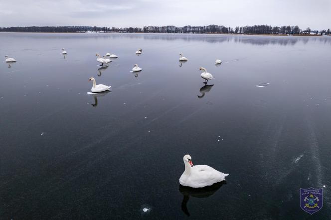
[[[202,188],[225,180],[229,174],[221,173],[207,165],[193,167],[191,156],[183,157],[185,171],[179,178],[179,184],[184,187]]]

